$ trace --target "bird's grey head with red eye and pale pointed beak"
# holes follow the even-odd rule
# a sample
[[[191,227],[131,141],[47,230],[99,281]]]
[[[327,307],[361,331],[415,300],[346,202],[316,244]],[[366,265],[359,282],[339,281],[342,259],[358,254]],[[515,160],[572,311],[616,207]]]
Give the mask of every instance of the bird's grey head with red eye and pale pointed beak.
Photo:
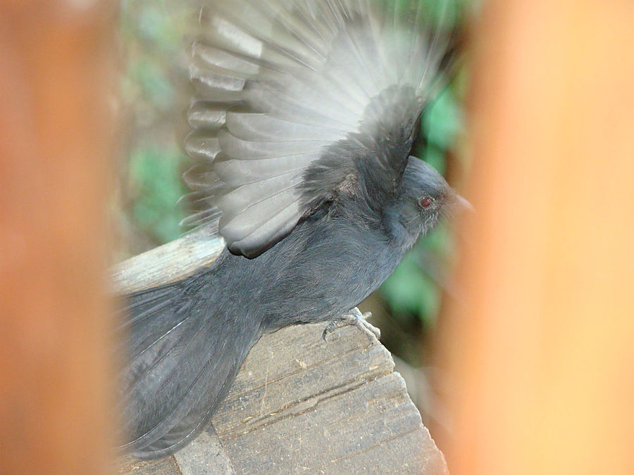
[[[442,218],[470,208],[433,167],[410,157],[394,203],[386,209],[385,224],[394,239],[409,247]]]

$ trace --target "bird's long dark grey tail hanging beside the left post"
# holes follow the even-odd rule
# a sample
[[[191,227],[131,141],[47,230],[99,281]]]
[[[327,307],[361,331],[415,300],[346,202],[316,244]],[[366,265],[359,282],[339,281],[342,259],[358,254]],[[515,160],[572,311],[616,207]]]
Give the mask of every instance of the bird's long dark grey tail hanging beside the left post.
[[[261,335],[254,319],[220,311],[211,277],[200,272],[127,297],[119,412],[122,448],[136,457],[163,457],[196,437]]]

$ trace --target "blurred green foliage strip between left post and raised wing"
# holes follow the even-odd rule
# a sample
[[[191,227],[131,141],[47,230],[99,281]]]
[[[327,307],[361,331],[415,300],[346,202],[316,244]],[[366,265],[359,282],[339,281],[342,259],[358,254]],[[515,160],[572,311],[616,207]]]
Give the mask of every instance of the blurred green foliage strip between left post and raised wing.
[[[122,199],[130,203],[127,221],[133,223],[137,246],[165,243],[182,234],[179,223],[184,216],[176,201],[185,194],[180,175],[189,159],[174,132],[189,95],[184,36],[191,24],[190,4],[121,0],[121,96],[128,112],[129,147],[124,158],[129,180]]]

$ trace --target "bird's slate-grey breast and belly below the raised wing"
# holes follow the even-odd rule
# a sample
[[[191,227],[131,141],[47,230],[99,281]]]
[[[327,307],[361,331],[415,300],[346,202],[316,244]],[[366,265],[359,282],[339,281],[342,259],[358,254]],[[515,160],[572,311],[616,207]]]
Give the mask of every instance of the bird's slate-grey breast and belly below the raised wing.
[[[312,229],[278,246],[263,262],[269,277],[261,298],[271,329],[342,315],[375,291],[402,258],[383,236],[363,227]]]

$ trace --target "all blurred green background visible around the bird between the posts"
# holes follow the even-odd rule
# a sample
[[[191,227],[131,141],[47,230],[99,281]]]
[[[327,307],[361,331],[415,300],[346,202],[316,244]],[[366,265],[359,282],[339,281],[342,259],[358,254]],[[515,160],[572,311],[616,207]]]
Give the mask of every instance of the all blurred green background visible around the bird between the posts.
[[[430,15],[440,3],[425,0]],[[448,2],[444,24],[452,26],[465,0]],[[192,90],[187,81],[188,44],[199,0],[122,0],[120,16],[120,92],[123,144],[120,179],[113,198],[117,241],[115,260],[123,260],[178,238],[185,212],[177,204],[187,190],[181,174],[189,166],[182,148],[185,113]],[[464,67],[425,111],[414,155],[455,184],[464,175]],[[454,235],[447,225],[421,239],[361,310],[373,312],[382,341],[397,356],[412,398],[432,413],[429,348],[443,298],[454,293],[449,280]]]

